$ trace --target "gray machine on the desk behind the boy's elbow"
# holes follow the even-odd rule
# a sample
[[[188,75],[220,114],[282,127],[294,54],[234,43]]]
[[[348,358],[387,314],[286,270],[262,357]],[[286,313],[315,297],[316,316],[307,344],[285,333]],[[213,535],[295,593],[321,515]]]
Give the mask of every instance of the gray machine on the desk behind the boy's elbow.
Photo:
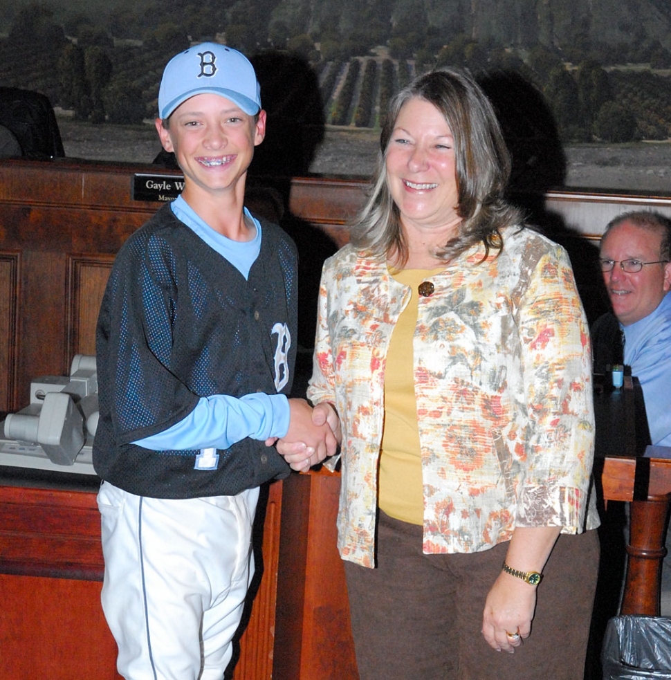
[[[35,378],[30,404],[6,416],[0,465],[95,475],[91,444],[97,426],[95,356],[77,354],[69,376]]]

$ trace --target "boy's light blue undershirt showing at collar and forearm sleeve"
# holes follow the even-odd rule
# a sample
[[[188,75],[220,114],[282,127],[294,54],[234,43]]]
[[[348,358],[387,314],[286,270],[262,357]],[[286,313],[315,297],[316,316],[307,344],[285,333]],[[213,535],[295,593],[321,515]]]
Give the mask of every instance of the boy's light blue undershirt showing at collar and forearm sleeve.
[[[261,225],[246,208],[246,216],[256,227],[256,235],[251,241],[233,241],[214,231],[182,196],[178,196],[170,207],[177,219],[225,257],[245,279],[248,278],[249,270],[261,252]],[[153,451],[227,449],[246,437],[259,441],[284,437],[288,428],[289,404],[284,394],[254,392],[240,398],[214,394],[201,397],[194,410],[172,427],[134,443]]]

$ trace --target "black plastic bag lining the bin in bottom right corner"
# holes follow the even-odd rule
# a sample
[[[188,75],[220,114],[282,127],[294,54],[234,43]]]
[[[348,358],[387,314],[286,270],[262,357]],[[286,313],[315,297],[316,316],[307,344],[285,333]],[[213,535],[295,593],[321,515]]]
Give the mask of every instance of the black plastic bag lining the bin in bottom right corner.
[[[671,680],[671,618],[614,616],[601,664],[603,680]]]

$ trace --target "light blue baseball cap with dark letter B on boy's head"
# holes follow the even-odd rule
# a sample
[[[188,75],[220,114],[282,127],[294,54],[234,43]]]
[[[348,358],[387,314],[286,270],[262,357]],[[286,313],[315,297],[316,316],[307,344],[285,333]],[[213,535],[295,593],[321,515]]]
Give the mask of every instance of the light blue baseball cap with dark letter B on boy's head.
[[[170,59],[158,89],[158,115],[167,118],[182,102],[204,93],[225,97],[249,116],[261,109],[261,88],[249,59],[215,42],[194,45]]]

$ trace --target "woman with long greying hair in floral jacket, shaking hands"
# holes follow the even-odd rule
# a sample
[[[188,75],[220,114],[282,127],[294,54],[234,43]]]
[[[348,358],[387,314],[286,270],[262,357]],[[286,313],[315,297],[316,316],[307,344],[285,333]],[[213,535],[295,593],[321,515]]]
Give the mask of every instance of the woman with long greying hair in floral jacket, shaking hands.
[[[508,153],[467,75],[407,86],[380,146],[324,264],[309,387],[342,426],[360,676],[582,679],[598,516],[569,260],[504,200]]]

